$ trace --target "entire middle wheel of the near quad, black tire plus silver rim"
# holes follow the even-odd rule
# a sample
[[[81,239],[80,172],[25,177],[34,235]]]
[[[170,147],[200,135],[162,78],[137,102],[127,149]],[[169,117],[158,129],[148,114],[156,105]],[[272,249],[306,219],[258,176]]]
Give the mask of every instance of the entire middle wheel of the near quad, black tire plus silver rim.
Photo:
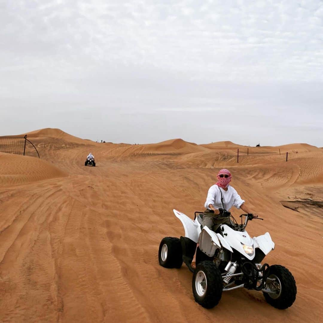
[[[206,285],[203,286],[203,283]],[[200,285],[204,291],[201,291]],[[192,279],[192,290],[195,302],[205,308],[212,308],[220,302],[223,280],[220,270],[212,261],[202,261],[196,266]]]

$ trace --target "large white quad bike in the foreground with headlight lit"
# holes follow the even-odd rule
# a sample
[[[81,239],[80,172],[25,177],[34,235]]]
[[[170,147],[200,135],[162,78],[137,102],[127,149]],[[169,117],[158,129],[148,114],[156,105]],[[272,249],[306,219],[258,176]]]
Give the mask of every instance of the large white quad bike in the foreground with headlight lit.
[[[249,220],[259,218],[242,214],[241,224],[238,224],[230,212],[220,209],[221,216],[227,216],[231,225],[222,224],[214,232],[206,226],[202,228],[203,212],[195,212],[194,220],[177,210],[173,212],[183,224],[185,237],[161,240],[159,264],[165,268],[180,268],[184,262],[190,268],[197,303],[212,308],[219,303],[223,291],[240,287],[262,291],[267,303],[278,309],[294,303],[296,283],[288,269],[281,265],[261,264],[275,248],[270,234],[266,232],[251,239],[245,231]],[[242,223],[244,216],[245,223]],[[194,270],[191,262],[200,233]]]

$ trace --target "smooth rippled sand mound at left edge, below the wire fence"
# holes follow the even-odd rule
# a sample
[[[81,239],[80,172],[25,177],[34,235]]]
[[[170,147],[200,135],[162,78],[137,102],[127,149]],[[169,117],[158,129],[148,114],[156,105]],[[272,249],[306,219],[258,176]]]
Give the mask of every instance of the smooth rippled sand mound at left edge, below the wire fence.
[[[68,174],[45,160],[0,153],[0,184],[17,185],[44,179],[66,177]]]

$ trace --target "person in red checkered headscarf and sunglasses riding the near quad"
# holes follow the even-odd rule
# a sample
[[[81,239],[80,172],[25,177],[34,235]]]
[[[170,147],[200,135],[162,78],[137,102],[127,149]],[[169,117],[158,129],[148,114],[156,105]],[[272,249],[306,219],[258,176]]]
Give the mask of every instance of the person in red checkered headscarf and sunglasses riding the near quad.
[[[252,213],[245,205],[237,191],[229,185],[231,182],[231,173],[227,169],[221,169],[217,175],[218,181],[209,188],[204,207],[202,226],[207,226],[210,230],[216,231],[221,224],[231,225],[229,218],[221,216],[219,209],[229,211],[232,206],[241,209],[246,213]],[[257,214],[253,213],[255,218]],[[200,240],[200,239],[199,239]],[[199,246],[199,240],[193,256],[191,267],[196,268],[196,251]]]

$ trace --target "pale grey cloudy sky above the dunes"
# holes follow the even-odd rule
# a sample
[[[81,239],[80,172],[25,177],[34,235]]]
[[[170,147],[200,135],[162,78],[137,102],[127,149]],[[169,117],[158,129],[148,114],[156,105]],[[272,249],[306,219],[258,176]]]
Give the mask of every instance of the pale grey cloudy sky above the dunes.
[[[4,0],[0,46],[0,135],[323,146],[322,0]]]

